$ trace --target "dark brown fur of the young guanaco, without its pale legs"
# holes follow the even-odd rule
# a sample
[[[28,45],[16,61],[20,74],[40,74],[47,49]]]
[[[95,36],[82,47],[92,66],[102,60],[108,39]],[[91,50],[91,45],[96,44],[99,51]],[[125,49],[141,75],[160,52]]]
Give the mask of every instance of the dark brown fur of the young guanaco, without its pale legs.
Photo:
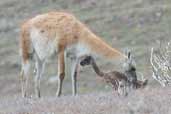
[[[131,82],[127,78],[127,74],[121,73],[118,71],[103,72],[99,69],[94,58],[91,56],[85,56],[80,61],[81,61],[80,64],[82,66],[92,65],[93,70],[98,74],[98,76],[102,77],[105,82],[111,84],[115,90],[118,90],[119,82],[121,82],[121,81],[123,81],[123,83],[125,83],[125,86],[133,85],[134,89],[144,88],[148,83],[147,80],[145,80],[145,81],[136,80],[136,81]]]

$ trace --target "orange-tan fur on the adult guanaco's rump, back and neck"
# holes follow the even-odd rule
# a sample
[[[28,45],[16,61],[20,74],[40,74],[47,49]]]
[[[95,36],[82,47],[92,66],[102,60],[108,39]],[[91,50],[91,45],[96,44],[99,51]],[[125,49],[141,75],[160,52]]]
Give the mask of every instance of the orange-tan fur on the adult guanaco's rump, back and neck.
[[[38,17],[39,16],[39,17]],[[93,34],[84,24],[77,20],[73,15],[64,12],[50,12],[38,15],[26,21],[22,26],[21,45],[23,58],[28,59],[30,45],[29,31],[31,27],[36,27],[40,32],[50,39],[56,39],[59,51],[67,46],[81,42],[86,44],[93,52],[107,58],[126,56],[116,49],[106,44],[100,37]],[[42,16],[42,18],[41,18]],[[56,37],[56,36],[59,37]]]

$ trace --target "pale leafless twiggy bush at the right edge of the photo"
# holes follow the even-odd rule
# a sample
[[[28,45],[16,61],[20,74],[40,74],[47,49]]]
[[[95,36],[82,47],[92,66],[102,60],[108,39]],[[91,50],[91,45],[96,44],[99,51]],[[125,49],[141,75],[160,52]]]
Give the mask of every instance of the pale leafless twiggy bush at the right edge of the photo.
[[[171,41],[156,50],[151,48],[150,62],[153,78],[163,87],[171,85]]]

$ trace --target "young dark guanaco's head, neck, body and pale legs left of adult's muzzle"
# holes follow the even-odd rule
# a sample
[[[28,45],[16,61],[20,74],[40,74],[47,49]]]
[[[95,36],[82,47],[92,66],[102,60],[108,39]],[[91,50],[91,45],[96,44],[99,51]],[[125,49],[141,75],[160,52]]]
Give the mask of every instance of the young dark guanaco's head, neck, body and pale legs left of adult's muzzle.
[[[126,87],[128,87],[130,81],[123,73],[118,71],[101,71],[94,58],[91,56],[86,56],[84,59],[80,60],[80,65],[91,65],[95,73],[100,76],[106,83],[111,84],[112,88],[118,91],[119,95],[126,96],[128,94]]]

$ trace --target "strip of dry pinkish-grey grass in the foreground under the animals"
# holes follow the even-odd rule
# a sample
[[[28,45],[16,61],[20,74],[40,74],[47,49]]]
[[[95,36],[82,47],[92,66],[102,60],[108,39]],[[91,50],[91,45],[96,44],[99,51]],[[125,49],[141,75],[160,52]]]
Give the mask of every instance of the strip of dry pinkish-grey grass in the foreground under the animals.
[[[3,114],[171,114],[171,88],[145,88],[128,97],[93,93],[76,97],[2,101]]]

